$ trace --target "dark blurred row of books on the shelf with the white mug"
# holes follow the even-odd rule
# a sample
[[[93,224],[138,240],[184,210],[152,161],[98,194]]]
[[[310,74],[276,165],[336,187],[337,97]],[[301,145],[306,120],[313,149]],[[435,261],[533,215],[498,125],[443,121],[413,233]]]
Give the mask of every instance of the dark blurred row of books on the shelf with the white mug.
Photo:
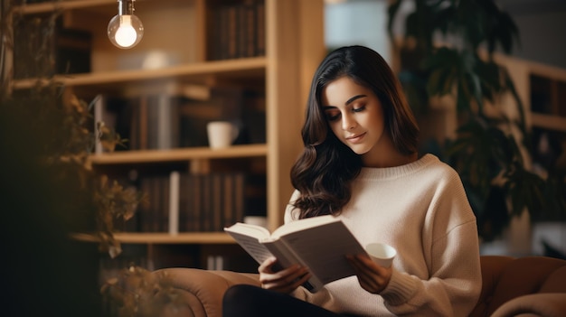
[[[153,94],[132,98],[99,95],[94,121],[127,139],[117,150],[171,149],[207,146],[206,124],[231,121],[240,135],[234,144],[265,143],[265,96],[238,88],[202,88],[206,96]],[[95,127],[96,128],[96,127]],[[96,153],[104,150],[99,145]]]

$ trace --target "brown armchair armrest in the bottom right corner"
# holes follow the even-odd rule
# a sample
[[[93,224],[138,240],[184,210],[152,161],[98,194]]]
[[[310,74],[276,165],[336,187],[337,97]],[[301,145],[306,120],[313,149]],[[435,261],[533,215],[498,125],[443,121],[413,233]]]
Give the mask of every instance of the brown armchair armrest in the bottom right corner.
[[[491,317],[563,317],[566,316],[566,294],[539,293],[516,297],[501,305]]]

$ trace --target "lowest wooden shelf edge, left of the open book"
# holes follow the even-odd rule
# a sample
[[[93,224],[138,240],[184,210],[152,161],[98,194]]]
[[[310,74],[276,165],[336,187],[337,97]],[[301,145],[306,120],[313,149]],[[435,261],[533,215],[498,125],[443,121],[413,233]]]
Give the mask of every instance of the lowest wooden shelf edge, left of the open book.
[[[71,235],[79,241],[98,242],[93,234],[75,233]],[[225,232],[183,232],[176,235],[167,232],[120,232],[115,233],[120,243],[125,244],[235,244],[236,241]]]

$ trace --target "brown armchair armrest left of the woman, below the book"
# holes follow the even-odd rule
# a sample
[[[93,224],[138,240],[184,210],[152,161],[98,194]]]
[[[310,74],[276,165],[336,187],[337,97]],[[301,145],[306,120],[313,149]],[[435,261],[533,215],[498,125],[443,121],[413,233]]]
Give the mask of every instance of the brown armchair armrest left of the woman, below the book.
[[[189,312],[184,317],[222,317],[222,296],[234,284],[259,286],[259,275],[196,268],[164,268],[154,274],[166,274],[182,291]]]

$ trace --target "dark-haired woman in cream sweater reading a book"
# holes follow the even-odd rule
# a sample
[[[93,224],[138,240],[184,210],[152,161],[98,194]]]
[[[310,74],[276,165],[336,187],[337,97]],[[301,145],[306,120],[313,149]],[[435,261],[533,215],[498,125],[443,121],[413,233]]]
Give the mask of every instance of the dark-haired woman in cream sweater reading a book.
[[[259,266],[262,288],[228,290],[224,316],[467,316],[481,290],[476,217],[458,173],[419,157],[419,128],[377,52],[326,56],[302,135],[285,221],[333,214],[362,245],[387,243],[397,256],[391,267],[348,256],[356,275],[315,294],[300,286],[307,267],[276,271],[270,258]]]

